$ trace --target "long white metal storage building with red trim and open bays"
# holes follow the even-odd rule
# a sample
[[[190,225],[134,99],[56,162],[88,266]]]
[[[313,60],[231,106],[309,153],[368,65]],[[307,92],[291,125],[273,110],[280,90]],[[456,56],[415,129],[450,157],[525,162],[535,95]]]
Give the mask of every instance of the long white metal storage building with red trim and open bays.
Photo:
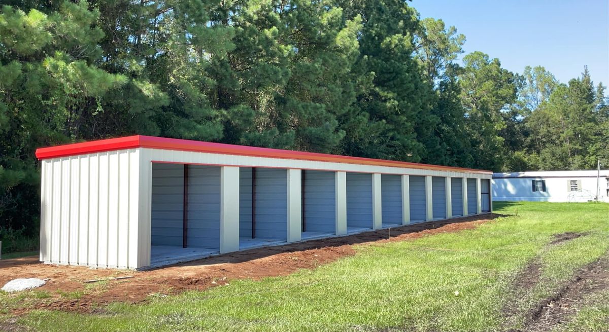
[[[484,170],[150,136],[36,155],[44,263],[150,268],[492,209]]]

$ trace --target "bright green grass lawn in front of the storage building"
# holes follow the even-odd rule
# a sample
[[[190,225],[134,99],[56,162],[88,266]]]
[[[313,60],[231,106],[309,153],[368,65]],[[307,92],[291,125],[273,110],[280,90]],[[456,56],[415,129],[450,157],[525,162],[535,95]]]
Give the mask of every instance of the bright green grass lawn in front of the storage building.
[[[609,204],[499,202],[507,216],[472,230],[356,246],[358,253],[312,271],[114,303],[96,314],[32,311],[12,320],[35,331],[508,331],[574,272],[609,250]],[[553,235],[580,237],[550,244]],[[514,291],[537,261],[538,282]],[[517,287],[516,287],[517,288]],[[6,306],[35,296],[0,294]],[[609,291],[555,331],[609,331]],[[509,309],[509,317],[505,310]],[[0,311],[1,313],[1,311]],[[2,325],[0,325],[0,329]]]

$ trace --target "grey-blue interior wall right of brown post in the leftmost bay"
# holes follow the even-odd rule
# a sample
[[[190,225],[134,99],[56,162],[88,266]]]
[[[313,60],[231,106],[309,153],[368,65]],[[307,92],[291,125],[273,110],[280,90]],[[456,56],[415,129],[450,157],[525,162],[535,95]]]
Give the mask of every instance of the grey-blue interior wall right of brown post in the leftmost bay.
[[[220,167],[188,166],[188,246],[220,249]]]

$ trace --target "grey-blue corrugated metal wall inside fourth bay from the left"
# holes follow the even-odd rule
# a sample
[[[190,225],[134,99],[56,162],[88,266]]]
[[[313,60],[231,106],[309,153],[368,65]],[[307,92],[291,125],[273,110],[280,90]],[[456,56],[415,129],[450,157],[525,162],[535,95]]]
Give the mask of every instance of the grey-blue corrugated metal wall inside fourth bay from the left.
[[[372,175],[347,173],[347,227],[372,228]]]

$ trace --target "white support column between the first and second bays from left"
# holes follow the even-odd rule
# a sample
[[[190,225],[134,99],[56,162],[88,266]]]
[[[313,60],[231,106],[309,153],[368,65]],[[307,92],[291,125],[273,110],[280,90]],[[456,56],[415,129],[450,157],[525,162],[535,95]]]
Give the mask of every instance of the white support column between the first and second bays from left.
[[[239,167],[220,167],[220,254],[239,250]]]

